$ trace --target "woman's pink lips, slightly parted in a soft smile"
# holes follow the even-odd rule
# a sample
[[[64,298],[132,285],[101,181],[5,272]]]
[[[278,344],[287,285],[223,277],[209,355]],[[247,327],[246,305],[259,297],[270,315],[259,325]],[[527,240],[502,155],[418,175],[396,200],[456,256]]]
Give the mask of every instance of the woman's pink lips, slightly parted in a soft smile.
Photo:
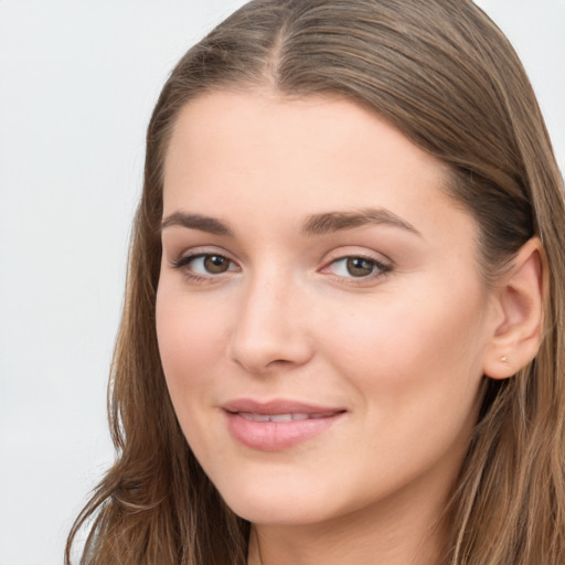
[[[242,398],[222,406],[227,428],[241,444],[263,451],[277,451],[318,436],[345,413],[342,408],[291,401],[259,403]]]

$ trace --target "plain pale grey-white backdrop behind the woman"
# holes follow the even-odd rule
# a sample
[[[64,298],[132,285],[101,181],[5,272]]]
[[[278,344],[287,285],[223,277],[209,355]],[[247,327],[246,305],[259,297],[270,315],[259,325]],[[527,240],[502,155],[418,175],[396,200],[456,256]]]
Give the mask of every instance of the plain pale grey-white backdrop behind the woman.
[[[0,565],[57,565],[110,463],[106,381],[143,136],[175,61],[239,0],[0,0]],[[478,2],[565,167],[565,0]]]

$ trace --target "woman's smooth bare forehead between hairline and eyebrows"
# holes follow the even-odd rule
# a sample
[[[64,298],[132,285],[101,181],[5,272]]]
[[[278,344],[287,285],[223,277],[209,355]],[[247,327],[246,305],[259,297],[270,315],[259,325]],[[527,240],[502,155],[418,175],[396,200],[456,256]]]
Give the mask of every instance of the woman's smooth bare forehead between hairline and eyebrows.
[[[174,124],[164,213],[262,210],[275,220],[381,206],[425,227],[462,214],[447,178],[447,166],[352,102],[217,92],[188,103]]]

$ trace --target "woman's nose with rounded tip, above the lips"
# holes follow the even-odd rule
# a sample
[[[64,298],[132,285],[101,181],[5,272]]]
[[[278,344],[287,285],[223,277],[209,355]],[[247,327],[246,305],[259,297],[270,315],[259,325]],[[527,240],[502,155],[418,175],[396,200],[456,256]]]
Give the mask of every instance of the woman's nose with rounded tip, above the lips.
[[[230,356],[247,372],[290,370],[312,356],[301,292],[288,279],[262,277],[244,290]]]

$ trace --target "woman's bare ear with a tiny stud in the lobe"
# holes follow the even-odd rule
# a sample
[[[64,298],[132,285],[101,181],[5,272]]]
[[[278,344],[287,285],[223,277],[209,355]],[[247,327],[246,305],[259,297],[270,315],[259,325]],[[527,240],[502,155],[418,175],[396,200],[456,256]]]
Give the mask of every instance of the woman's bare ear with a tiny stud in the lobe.
[[[545,254],[540,239],[532,237],[521,247],[493,291],[495,321],[484,358],[487,376],[508,379],[537,354],[546,286]]]

